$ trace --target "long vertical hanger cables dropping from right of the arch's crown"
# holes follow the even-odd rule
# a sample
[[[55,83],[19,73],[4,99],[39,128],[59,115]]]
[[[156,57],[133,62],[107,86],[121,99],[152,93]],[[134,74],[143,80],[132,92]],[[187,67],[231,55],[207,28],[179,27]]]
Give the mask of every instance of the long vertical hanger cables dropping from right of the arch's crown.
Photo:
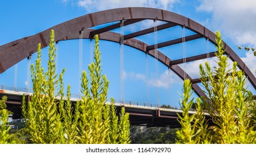
[[[158,52],[157,52],[157,20],[154,20],[155,70],[156,70],[156,104],[159,104],[158,92]]]

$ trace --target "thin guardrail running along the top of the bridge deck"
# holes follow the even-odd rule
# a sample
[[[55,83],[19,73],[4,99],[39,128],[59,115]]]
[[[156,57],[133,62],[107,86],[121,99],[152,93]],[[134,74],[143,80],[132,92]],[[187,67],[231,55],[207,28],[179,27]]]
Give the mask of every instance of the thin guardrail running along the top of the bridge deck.
[[[26,93],[33,93],[33,89],[27,89],[24,87],[14,87],[14,86],[4,86],[0,85],[0,90],[11,90],[11,91],[19,91]],[[58,93],[55,93],[55,95],[58,95]],[[66,95],[66,94],[65,94]],[[72,98],[75,99],[81,99],[79,95],[71,94]],[[107,99],[106,102],[110,102],[111,99]],[[114,103],[116,104],[124,104],[124,105],[134,105],[134,106],[145,106],[145,107],[155,107],[155,108],[165,108],[165,109],[172,109],[172,110],[181,110],[181,107],[173,107],[170,105],[165,104],[151,104],[151,103],[145,103],[145,102],[135,102],[135,101],[122,101],[122,100],[114,100]],[[190,111],[196,111],[196,109],[191,108]]]

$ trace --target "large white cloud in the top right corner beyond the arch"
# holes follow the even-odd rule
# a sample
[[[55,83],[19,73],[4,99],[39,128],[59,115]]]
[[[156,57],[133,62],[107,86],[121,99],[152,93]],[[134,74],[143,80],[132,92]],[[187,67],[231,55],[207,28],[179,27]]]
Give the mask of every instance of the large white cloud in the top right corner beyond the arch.
[[[256,45],[255,0],[199,0],[198,11],[212,13],[212,28],[220,30],[235,44]]]

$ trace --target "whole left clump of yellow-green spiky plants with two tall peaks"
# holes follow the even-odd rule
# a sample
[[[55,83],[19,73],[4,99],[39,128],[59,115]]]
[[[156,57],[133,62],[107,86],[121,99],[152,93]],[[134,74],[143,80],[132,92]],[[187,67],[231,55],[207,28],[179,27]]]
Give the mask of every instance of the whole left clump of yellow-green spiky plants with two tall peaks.
[[[101,75],[99,38],[95,35],[94,60],[89,65],[89,80],[86,72],[81,75],[81,100],[75,105],[70,101],[70,85],[64,97],[63,74],[55,73],[54,31],[50,33],[48,70],[44,73],[41,64],[40,44],[35,66],[32,64],[33,95],[25,104],[22,113],[25,131],[32,143],[130,143],[129,113],[121,109],[116,115],[113,100],[106,104],[109,81]],[[59,87],[59,89],[58,89]],[[54,93],[58,90],[58,94]],[[57,96],[60,99],[57,100]]]

